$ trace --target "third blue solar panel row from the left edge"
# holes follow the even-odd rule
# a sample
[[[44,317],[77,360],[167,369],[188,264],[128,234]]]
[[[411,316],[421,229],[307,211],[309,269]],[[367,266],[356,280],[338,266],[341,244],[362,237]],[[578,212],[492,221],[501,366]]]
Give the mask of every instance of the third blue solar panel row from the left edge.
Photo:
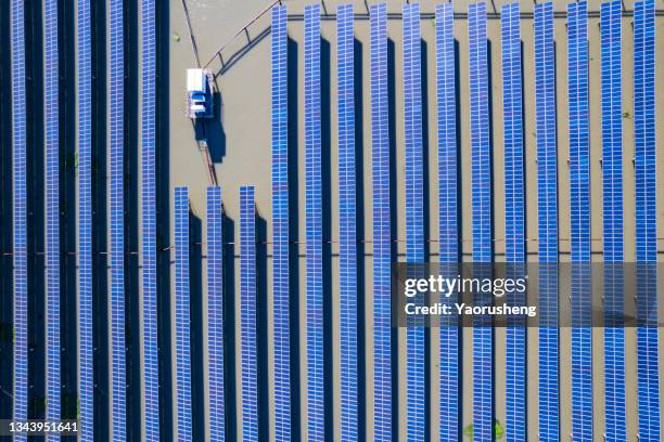
[[[92,340],[92,37],[89,0],[78,0],[78,398],[80,441],[94,438]]]

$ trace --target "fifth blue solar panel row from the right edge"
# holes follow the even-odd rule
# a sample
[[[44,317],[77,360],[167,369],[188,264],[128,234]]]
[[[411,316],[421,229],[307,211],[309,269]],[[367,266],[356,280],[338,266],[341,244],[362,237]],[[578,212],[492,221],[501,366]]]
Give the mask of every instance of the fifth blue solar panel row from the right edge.
[[[525,260],[523,102],[521,30],[518,2],[501,6],[502,108],[505,123],[505,253],[510,276],[522,277]],[[518,274],[519,273],[519,274]],[[521,294],[511,295],[524,304]],[[506,330],[506,429],[509,441],[526,439],[526,333],[516,320]]]

